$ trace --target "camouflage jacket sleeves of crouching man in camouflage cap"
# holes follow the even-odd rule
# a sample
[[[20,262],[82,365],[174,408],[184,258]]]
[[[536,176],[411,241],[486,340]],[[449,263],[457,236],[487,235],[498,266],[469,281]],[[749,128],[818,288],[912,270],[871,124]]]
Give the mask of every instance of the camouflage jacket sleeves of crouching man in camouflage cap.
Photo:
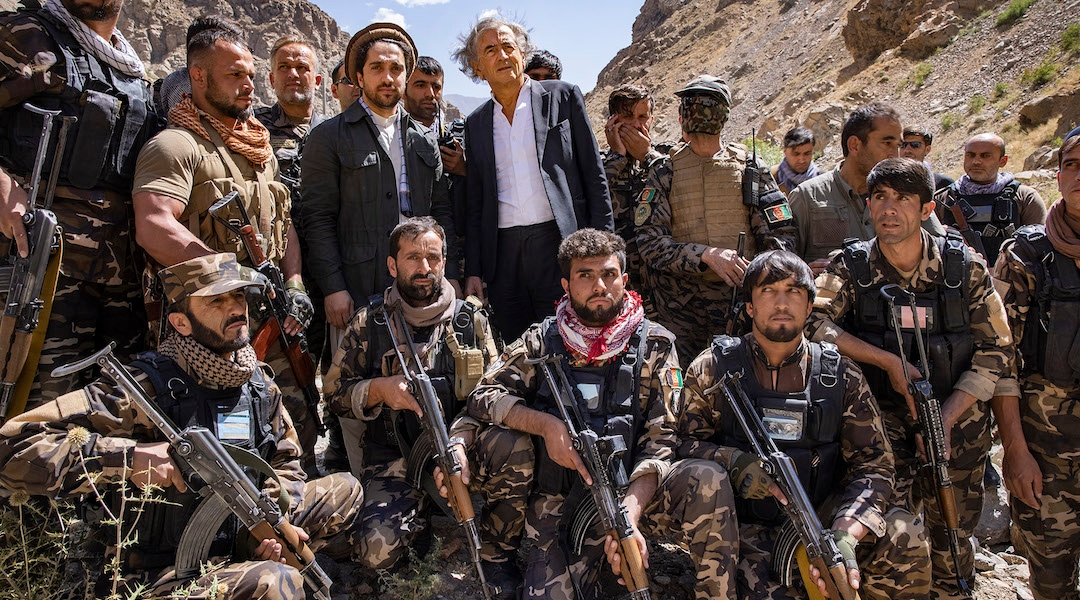
[[[299,463],[300,442],[282,407],[281,391],[271,381],[272,373],[262,368],[270,382],[270,426],[276,438],[276,451],[269,462],[295,508],[303,497],[306,478]],[[146,373],[136,370],[133,376],[151,398],[157,396]],[[78,427],[89,432],[83,440],[73,435]],[[161,431],[112,382],[102,379],[0,427],[0,487],[54,499],[91,493],[86,473],[100,473],[95,479],[98,488],[119,482],[125,471],[131,475],[135,445],[159,441],[165,441]],[[272,478],[264,488],[278,496]]]

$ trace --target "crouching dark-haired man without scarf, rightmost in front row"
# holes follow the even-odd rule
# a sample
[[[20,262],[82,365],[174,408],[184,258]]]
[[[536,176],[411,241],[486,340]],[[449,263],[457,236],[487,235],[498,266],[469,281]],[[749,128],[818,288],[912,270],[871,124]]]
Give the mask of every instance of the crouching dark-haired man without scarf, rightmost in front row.
[[[726,465],[741,496],[738,597],[805,598],[770,573],[781,562],[781,540],[794,530],[769,497],[772,478],[756,477],[761,460],[716,391],[721,377],[742,373],[743,390],[764,418],[798,424],[775,444],[795,462],[810,502],[851,561],[851,586],[868,600],[924,599],[927,538],[922,521],[891,503],[893,454],[877,400],[853,360],[802,335],[815,294],[810,268],[798,256],[769,251],[751,261],[743,295],[753,330],[717,337],[690,365],[679,454]]]

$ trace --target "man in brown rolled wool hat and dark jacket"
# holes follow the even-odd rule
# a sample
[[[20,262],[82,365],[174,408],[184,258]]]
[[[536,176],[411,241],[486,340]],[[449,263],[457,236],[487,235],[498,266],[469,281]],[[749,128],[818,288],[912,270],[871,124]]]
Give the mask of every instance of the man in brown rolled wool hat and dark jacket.
[[[363,90],[360,99],[312,129],[303,147],[300,235],[326,295],[334,349],[355,309],[393,282],[387,257],[394,226],[431,216],[455,238],[438,147],[400,106],[416,58],[413,38],[397,25],[360,30],[345,55],[345,76]],[[446,277],[457,289],[457,253],[447,250]]]

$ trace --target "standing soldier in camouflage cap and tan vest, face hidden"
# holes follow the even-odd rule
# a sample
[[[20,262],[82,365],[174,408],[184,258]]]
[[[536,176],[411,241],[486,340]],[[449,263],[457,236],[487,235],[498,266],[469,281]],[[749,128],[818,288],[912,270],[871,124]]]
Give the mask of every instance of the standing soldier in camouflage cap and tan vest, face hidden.
[[[690,360],[725,331],[747,257],[793,247],[795,229],[768,167],[748,165],[745,146],[720,142],[731,107],[727,84],[701,76],[676,95],[688,141],[652,165],[634,223],[657,319],[675,333],[679,356]],[[748,166],[761,177],[753,190],[743,185]],[[742,254],[740,232],[746,234]]]

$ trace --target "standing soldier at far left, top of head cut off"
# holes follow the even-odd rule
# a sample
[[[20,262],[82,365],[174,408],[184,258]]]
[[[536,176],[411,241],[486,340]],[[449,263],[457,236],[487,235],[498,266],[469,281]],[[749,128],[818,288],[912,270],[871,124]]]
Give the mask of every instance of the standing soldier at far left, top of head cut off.
[[[38,365],[46,399],[90,383],[86,372],[52,378],[55,367],[110,341],[121,356],[133,356],[146,335],[131,192],[135,159],[160,119],[143,62],[116,28],[123,0],[89,4],[50,0],[0,15],[0,234],[21,254],[27,251],[24,190],[32,185],[38,145],[27,132],[41,128],[41,118],[23,105],[79,119],[68,133],[52,205],[65,247]],[[42,173],[50,172],[51,156]]]

